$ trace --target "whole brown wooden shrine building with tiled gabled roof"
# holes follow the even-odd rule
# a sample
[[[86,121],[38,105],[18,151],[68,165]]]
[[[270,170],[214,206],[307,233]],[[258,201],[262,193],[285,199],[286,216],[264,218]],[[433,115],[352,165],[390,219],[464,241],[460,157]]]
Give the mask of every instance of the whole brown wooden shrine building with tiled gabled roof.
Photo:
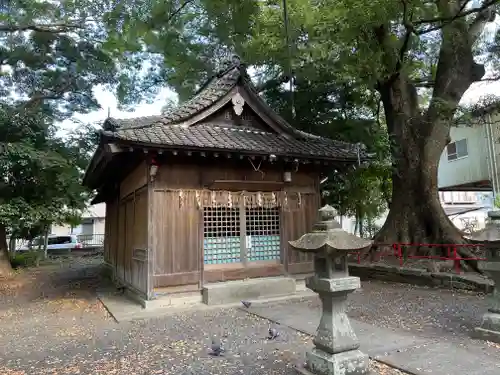
[[[153,299],[311,272],[311,258],[288,241],[317,220],[322,173],[359,158],[354,145],[288,124],[234,59],[168,114],[108,118],[84,184],[106,203],[115,280]]]

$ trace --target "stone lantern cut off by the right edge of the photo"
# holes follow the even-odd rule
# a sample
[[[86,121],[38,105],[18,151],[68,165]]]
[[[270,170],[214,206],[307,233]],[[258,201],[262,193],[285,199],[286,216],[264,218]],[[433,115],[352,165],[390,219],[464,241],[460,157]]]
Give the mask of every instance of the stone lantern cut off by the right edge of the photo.
[[[500,211],[488,212],[488,218],[486,227],[469,237],[472,242],[484,244],[486,260],[479,261],[478,266],[495,283],[491,307],[474,336],[500,343]]]

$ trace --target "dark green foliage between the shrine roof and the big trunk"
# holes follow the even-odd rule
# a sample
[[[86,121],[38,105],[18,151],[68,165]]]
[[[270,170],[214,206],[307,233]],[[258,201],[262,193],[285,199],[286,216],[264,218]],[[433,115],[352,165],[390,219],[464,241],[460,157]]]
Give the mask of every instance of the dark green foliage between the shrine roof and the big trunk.
[[[299,70],[294,91],[296,116],[290,111],[290,92],[282,85],[267,84],[267,102],[304,131],[344,142],[367,145],[375,161],[367,166],[331,171],[322,186],[325,202],[342,215],[358,220],[379,217],[390,200],[390,154],[387,131],[377,121],[373,97],[336,81],[335,72]],[[307,75],[306,75],[307,74]],[[271,81],[272,82],[272,81]]]

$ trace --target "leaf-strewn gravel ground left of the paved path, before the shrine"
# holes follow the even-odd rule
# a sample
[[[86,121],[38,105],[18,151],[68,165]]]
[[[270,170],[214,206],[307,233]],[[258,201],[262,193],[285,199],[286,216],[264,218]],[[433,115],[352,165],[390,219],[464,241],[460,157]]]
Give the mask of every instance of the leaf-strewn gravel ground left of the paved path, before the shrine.
[[[101,259],[24,270],[0,290],[0,373],[295,374],[312,337],[239,310],[183,314],[118,325],[97,300]],[[224,358],[208,355],[223,337]],[[372,361],[379,375],[403,372]]]

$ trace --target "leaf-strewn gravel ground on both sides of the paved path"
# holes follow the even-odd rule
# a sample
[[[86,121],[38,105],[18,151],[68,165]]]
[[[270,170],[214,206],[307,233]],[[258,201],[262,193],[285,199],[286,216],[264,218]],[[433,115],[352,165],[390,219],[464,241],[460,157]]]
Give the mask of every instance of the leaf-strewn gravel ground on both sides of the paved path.
[[[82,257],[0,282],[0,374],[291,375],[312,346],[311,336],[285,328],[266,340],[269,321],[235,309],[117,324],[97,299],[106,286],[101,261]],[[382,327],[466,335],[486,307],[480,295],[370,282],[353,294],[349,314]],[[227,342],[224,358],[207,354],[213,336]],[[371,366],[374,374],[403,374]]]

